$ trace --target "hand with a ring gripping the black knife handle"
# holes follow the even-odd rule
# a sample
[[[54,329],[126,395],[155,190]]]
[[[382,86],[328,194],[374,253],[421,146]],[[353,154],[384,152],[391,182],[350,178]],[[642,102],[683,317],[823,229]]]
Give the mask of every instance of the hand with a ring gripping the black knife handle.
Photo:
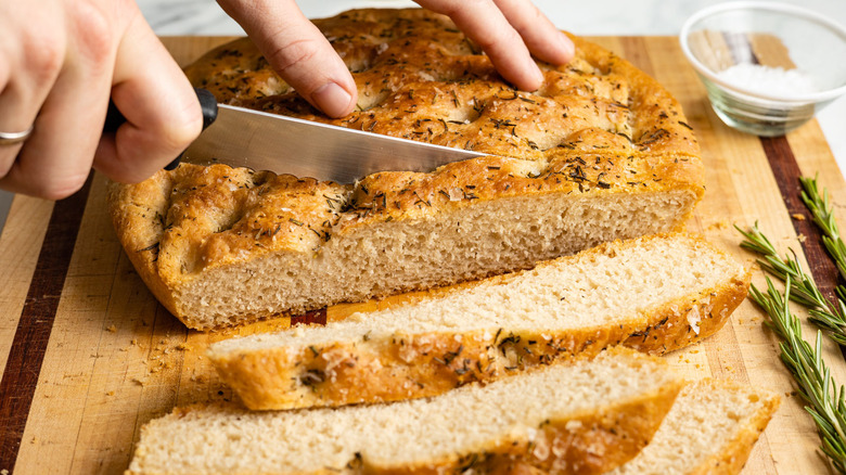
[[[132,0],[0,0],[0,188],[51,200],[93,165],[143,180],[200,133],[191,85]],[[108,99],[127,118],[101,140]]]

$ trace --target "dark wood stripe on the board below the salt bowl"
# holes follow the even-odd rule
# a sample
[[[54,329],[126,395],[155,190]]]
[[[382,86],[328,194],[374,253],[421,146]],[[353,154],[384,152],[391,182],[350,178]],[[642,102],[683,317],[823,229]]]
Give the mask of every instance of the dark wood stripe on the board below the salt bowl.
[[[805,203],[802,202],[799,164],[796,163],[796,157],[785,137],[761,137],[760,143],[776,176],[784,206],[791,214],[793,229],[796,230],[797,235],[805,236],[804,240],[799,240],[799,243],[808,260],[813,281],[820,287],[820,292],[833,301],[834,288],[837,286],[837,268],[823,247],[822,233],[811,220],[811,214],[805,207]],[[797,216],[803,216],[805,219],[796,219]]]

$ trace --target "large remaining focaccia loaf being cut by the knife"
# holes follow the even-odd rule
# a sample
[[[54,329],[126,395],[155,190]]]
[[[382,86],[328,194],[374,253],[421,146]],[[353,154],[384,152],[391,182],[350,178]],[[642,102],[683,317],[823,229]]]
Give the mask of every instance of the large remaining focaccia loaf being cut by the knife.
[[[540,64],[543,86],[524,92],[443,15],[361,10],[316,24],[359,88],[358,110],[342,119],[310,108],[247,39],[187,74],[219,102],[490,156],[350,185],[188,164],[113,183],[110,213],[127,255],[190,328],[448,285],[678,231],[704,192],[681,106],[595,44],[575,38],[576,59]]]

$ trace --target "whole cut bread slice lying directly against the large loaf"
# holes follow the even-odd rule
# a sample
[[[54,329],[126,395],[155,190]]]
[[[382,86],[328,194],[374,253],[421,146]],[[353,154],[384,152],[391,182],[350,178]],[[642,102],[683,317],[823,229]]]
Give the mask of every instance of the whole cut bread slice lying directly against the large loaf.
[[[700,238],[599,246],[413,305],[210,345],[251,409],[433,396],[624,344],[661,354],[719,330],[743,266]]]

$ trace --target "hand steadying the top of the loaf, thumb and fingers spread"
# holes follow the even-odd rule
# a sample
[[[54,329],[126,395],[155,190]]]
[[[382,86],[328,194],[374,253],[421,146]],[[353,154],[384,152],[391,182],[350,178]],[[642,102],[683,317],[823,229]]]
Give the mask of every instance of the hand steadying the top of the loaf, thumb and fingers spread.
[[[543,81],[531,54],[553,64],[573,59],[574,46],[525,0],[415,0],[448,15],[487,54],[505,80],[534,91]],[[294,0],[218,0],[258,46],[279,75],[332,117],[352,112],[352,76]]]

